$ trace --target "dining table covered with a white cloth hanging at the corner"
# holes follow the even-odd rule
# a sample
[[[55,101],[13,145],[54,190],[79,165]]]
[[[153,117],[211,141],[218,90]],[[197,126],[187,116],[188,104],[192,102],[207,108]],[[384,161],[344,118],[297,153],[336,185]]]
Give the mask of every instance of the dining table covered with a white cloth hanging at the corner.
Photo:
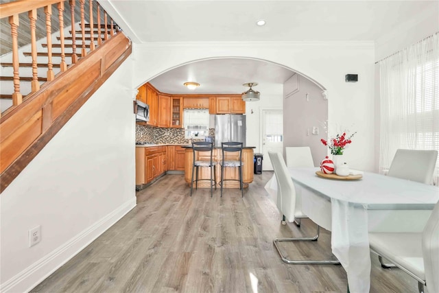
[[[288,168],[302,211],[331,231],[332,253],[346,270],[353,293],[370,290],[368,232],[420,232],[439,188],[364,172],[359,180],[316,175],[319,168]]]

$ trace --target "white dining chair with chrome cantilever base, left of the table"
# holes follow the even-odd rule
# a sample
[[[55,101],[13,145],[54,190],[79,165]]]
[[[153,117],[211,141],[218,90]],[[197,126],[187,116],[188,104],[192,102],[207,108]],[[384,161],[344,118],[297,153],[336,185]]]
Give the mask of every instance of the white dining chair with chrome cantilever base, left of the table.
[[[278,199],[276,202],[277,208],[283,214],[283,222],[294,222],[296,218],[308,218],[301,209],[300,205],[296,204],[296,189],[292,178],[289,176],[287,165],[283,160],[282,155],[279,152],[269,151],[270,161],[272,162],[274,174],[276,174]],[[339,264],[340,262],[335,260],[293,260],[288,259],[279,247],[279,242],[294,242],[294,241],[316,241],[320,235],[320,226],[317,226],[316,235],[313,237],[295,237],[295,238],[276,238],[273,240],[274,246],[278,251],[281,259],[285,263],[289,264]]]

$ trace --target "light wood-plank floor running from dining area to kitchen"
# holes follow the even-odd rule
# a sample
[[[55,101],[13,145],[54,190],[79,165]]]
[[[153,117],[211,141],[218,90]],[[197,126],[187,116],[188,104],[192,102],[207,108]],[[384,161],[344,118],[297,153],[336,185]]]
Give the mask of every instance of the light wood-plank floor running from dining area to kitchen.
[[[166,175],[137,193],[137,207],[32,292],[346,292],[342,266],[287,265],[275,237],[311,235],[315,225],[281,225],[263,188],[272,172],[239,189],[189,196],[183,175]],[[331,257],[331,234],[285,244],[291,257]],[[417,292],[398,269],[372,255],[370,292]]]

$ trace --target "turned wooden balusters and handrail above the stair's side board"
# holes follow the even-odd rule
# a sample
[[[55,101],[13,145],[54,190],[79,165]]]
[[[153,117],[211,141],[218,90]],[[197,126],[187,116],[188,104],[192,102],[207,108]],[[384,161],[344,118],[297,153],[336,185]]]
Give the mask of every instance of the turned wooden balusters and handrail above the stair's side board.
[[[86,2],[87,1],[87,2]],[[68,3],[70,7],[70,14],[69,15],[69,25],[71,25],[71,36],[64,37],[64,3]],[[85,4],[88,4],[89,11],[85,11]],[[35,93],[40,89],[40,81],[38,80],[38,56],[46,56],[47,57],[47,74],[45,78],[47,78],[47,81],[54,80],[55,74],[54,74],[54,67],[60,68],[60,72],[64,72],[67,70],[67,58],[71,59],[71,62],[69,64],[74,65],[76,62],[78,62],[78,53],[77,53],[77,40],[76,37],[77,31],[75,30],[75,17],[80,18],[80,25],[82,30],[80,30],[80,39],[82,40],[81,45],[81,53],[79,54],[81,57],[86,56],[89,51],[93,51],[97,46],[102,45],[102,36],[97,37],[97,44],[95,45],[95,38],[93,36],[93,33],[95,32],[95,27],[97,28],[97,32],[99,33],[102,30],[105,29],[107,31],[110,29],[110,36],[113,36],[115,34],[115,25],[112,23],[112,19],[108,21],[107,14],[104,10],[104,23],[101,21],[101,9],[99,6],[99,3],[97,1],[93,0],[79,0],[79,5],[75,0],[70,1],[63,1],[63,0],[39,0],[39,1],[32,1],[32,0],[17,0],[10,3],[3,3],[0,5],[0,16],[1,19],[8,18],[11,28],[11,38],[12,38],[12,67],[13,67],[13,84],[14,84],[14,91],[12,93],[12,108],[14,106],[18,106],[23,102],[23,93],[21,93],[21,82],[27,81],[27,79],[23,78],[23,76],[20,76],[19,74],[19,67],[21,67],[19,62],[19,47],[18,47],[18,40],[19,40],[19,23],[20,19],[23,20],[24,17],[27,17],[29,19],[29,30],[26,31],[30,34],[31,38],[31,52],[27,53],[25,52],[25,56],[32,56],[32,83],[31,87],[32,90],[30,93]],[[56,20],[58,25],[56,27],[53,27],[52,23],[52,6],[56,6],[56,10],[58,11],[58,19]],[[93,14],[95,12],[95,8],[97,13]],[[41,21],[37,18],[37,10],[41,9],[44,11],[45,14],[45,20],[44,23],[37,23],[37,21]],[[88,16],[88,17],[87,17]],[[96,23],[93,19],[97,19]],[[88,21],[88,22],[87,22]],[[66,23],[67,24],[67,23]],[[47,51],[45,52],[38,52],[37,51],[37,40],[36,40],[36,27],[45,27],[46,32],[46,39],[47,43],[45,44],[45,48]],[[86,36],[86,27],[92,27],[87,32],[90,33],[90,36]],[[58,31],[60,33],[60,36],[57,37],[59,40],[59,44],[54,44],[51,40],[51,34],[54,31]],[[116,27],[116,30],[119,30],[119,27]],[[106,34],[104,36],[104,40],[108,39],[108,35]],[[71,40],[71,44],[66,44],[66,40]],[[88,44],[86,41],[89,41]],[[60,48],[60,53],[54,53],[52,48]],[[66,53],[65,49],[66,47],[71,48],[71,53]],[[61,61],[60,64],[54,65],[53,57],[60,57]],[[8,66],[6,64],[1,64],[2,66]],[[40,77],[41,78],[41,77]],[[2,93],[3,95],[5,93]],[[0,114],[1,115],[1,114]]]

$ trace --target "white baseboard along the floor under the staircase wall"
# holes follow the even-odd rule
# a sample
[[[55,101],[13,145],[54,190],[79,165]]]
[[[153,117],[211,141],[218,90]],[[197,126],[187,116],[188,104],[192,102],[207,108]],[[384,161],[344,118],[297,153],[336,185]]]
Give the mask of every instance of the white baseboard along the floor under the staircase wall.
[[[42,259],[36,261],[25,270],[0,284],[0,292],[29,292],[41,283],[50,274],[58,270],[64,263],[80,253],[88,244],[91,244],[99,235],[120,220],[136,206],[136,198],[128,200],[95,224],[73,237],[69,242],[58,247]]]

